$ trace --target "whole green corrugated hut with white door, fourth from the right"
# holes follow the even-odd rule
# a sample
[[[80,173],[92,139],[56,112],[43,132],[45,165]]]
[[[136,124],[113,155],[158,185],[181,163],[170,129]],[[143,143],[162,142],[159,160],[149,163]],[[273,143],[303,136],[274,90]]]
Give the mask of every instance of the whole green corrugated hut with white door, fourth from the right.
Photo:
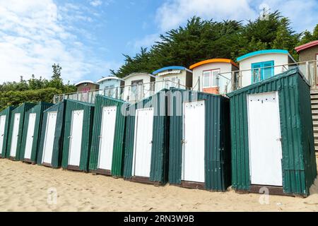
[[[90,172],[122,177],[127,104],[112,97],[97,95],[90,147]]]

